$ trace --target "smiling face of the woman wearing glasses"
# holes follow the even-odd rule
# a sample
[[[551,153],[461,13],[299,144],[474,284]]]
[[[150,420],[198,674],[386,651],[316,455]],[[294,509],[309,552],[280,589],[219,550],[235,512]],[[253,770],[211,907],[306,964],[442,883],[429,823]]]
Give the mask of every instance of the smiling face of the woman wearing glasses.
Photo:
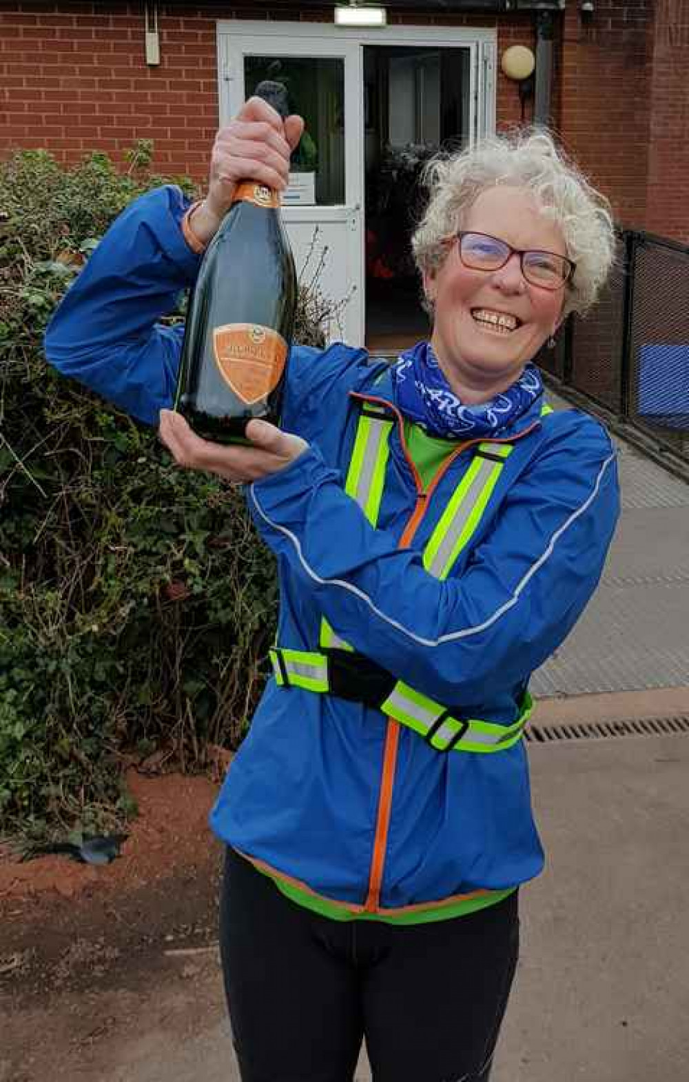
[[[490,234],[521,250],[567,255],[559,226],[539,212],[526,188],[487,188],[462,229]],[[526,281],[516,254],[500,270],[473,270],[454,243],[442,266],[424,276],[424,288],[435,307],[433,347],[450,385],[466,401],[509,386],[561,321],[565,290]],[[500,328],[496,316],[507,317]]]

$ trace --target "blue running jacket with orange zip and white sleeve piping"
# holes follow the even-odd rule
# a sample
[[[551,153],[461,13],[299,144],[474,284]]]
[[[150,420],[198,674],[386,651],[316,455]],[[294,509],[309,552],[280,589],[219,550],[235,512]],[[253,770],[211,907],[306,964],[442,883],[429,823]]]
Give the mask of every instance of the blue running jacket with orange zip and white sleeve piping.
[[[51,364],[151,425],[171,406],[183,337],[157,320],[200,263],[181,230],[186,207],[174,186],[128,207],[45,335]],[[454,460],[411,547],[400,549],[424,496],[401,424],[377,528],[344,492],[360,409],[352,392],[392,401],[386,362],[341,343],[293,347],[282,426],[309,448],[247,488],[278,560],[278,643],[317,650],[324,616],[414,689],[508,725],[530,674],[567,637],[600,577],[619,515],[610,437],[577,410],[541,418],[538,401],[501,431],[514,451],[472,543],[440,581],[421,550],[474,449]],[[522,741],[491,754],[442,753],[376,709],[274,679],[211,823],[257,867],[348,915],[437,911],[514,888],[543,867]]]

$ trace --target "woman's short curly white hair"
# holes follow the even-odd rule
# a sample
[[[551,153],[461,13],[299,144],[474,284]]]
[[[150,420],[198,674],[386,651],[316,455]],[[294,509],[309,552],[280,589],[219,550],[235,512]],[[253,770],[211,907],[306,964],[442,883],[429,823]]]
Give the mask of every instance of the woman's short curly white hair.
[[[562,230],[567,255],[577,264],[566,287],[564,314],[583,314],[594,304],[614,262],[610,203],[544,129],[487,136],[459,154],[439,155],[423,176],[429,201],[412,237],[422,274],[441,266],[448,253],[443,241],[462,228],[466,211],[481,192],[496,184],[522,187]]]

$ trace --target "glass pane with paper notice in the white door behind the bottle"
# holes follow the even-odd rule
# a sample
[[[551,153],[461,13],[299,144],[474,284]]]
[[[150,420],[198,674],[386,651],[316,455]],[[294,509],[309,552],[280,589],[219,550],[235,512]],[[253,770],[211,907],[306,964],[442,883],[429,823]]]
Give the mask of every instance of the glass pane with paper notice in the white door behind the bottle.
[[[345,201],[344,60],[337,56],[246,56],[250,97],[262,79],[287,87],[290,111],[304,117],[304,134],[292,154],[284,206]]]

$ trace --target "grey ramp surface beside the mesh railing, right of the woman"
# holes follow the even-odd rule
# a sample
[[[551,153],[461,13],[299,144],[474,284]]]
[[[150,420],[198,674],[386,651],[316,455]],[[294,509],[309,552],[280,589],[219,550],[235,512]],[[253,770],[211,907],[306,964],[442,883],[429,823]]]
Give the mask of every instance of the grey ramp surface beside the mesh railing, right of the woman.
[[[569,404],[548,393],[557,409]],[[617,439],[622,515],[598,591],[538,697],[689,685],[689,485]]]

